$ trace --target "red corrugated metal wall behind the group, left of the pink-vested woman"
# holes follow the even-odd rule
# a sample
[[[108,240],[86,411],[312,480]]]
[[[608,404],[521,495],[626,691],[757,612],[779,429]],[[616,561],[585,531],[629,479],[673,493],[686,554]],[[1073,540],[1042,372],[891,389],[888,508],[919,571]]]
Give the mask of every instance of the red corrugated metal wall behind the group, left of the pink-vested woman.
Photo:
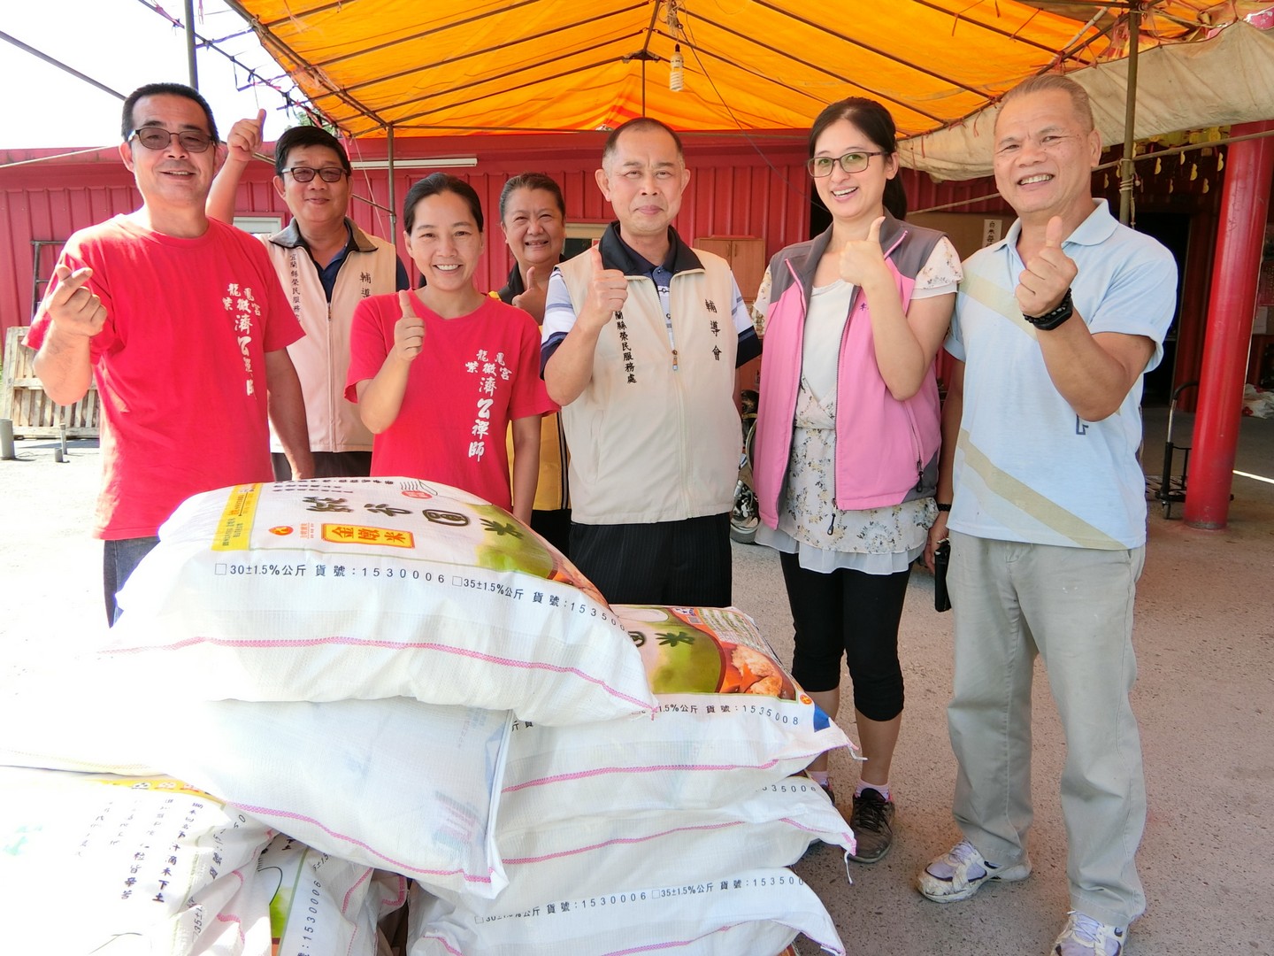
[[[399,161],[415,157],[476,156],[478,166],[451,170],[468,180],[483,203],[487,218],[487,255],[475,279],[480,288],[498,288],[512,265],[499,229],[499,191],[508,177],[527,170],[545,172],[562,184],[569,222],[609,222],[610,206],[594,180],[604,134],[585,134],[563,141],[561,136],[457,136],[445,140],[397,140]],[[426,148],[428,152],[426,152]],[[45,150],[48,152],[48,150]],[[676,218],[688,240],[707,235],[750,235],[766,240],[766,254],[806,237],[809,223],[804,144],[798,139],[758,139],[755,148],[736,138],[687,138],[691,185]],[[0,164],[25,159],[31,153],[0,152]],[[383,140],[355,143],[354,161],[383,161]],[[429,170],[399,170],[395,201],[401,204],[412,182]],[[240,186],[236,212],[241,215],[278,215],[287,206],[274,191],[274,171],[254,163]],[[389,204],[385,170],[357,170],[354,195]],[[24,325],[31,320],[32,240],[65,240],[75,229],[138,206],[132,177],[116,150],[82,158],[46,161],[0,170],[0,324]],[[354,221],[389,238],[387,212],[366,201],[352,203]],[[401,227],[401,223],[399,224]],[[413,272],[395,236],[400,255]],[[52,272],[54,251],[39,264],[41,278]]]

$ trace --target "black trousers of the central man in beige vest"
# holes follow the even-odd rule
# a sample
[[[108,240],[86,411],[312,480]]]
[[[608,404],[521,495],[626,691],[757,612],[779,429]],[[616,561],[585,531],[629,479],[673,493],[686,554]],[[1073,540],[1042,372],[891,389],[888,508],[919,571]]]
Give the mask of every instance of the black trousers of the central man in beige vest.
[[[612,604],[730,605],[730,512],[571,524],[571,561]]]

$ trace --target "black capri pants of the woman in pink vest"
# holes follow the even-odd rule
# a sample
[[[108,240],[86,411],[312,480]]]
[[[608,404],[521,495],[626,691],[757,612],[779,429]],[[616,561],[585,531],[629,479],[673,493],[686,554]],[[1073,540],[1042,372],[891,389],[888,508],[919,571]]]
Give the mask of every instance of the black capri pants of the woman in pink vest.
[[[892,575],[837,569],[809,571],[796,554],[778,554],[796,627],[792,677],[806,691],[841,686],[841,655],[854,684],[854,706],[869,720],[902,713],[898,623],[911,567]]]

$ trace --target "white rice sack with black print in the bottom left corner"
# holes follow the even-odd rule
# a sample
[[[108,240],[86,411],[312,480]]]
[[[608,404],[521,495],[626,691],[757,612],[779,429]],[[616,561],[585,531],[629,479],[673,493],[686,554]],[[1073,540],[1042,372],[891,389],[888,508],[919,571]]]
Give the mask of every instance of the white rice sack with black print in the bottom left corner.
[[[0,767],[0,792],[13,952],[97,952],[122,937],[191,952],[222,936],[220,914],[273,836],[173,778]]]

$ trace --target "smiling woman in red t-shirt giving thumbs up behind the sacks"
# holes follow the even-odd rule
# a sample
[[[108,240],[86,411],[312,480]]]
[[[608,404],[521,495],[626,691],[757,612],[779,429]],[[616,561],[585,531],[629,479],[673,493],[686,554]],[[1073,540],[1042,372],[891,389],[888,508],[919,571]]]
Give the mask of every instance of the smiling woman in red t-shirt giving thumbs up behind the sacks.
[[[468,182],[441,172],[417,182],[403,222],[426,286],[363,300],[350,333],[345,396],[375,435],[372,474],[464,488],[530,523],[540,416],[557,410],[539,376],[539,329],[474,286],[483,214]]]

